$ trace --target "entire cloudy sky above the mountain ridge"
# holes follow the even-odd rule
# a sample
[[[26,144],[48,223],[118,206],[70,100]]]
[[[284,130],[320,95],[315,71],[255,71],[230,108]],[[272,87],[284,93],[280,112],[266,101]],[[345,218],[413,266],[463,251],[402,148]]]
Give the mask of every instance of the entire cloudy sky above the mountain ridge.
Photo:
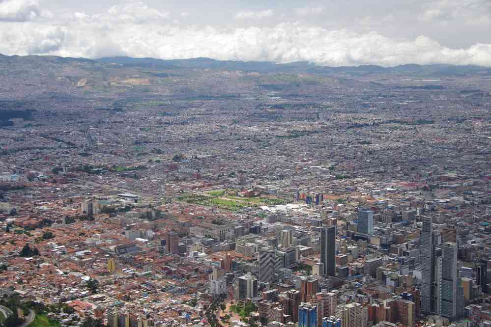
[[[0,54],[491,66],[491,0],[0,0]]]

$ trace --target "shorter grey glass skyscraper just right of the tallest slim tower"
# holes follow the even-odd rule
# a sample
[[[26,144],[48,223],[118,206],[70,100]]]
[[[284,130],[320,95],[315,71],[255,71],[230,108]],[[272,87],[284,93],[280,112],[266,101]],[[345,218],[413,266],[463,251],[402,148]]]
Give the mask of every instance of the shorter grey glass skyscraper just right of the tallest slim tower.
[[[458,316],[458,267],[457,243],[447,242],[443,245],[440,282],[440,314],[443,317],[455,318]]]

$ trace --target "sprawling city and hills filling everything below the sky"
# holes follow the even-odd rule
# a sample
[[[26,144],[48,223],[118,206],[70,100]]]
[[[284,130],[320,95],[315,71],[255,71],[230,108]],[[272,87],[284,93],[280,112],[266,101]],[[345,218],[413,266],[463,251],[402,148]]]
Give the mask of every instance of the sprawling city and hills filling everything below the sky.
[[[0,55],[0,324],[490,327],[491,70]]]

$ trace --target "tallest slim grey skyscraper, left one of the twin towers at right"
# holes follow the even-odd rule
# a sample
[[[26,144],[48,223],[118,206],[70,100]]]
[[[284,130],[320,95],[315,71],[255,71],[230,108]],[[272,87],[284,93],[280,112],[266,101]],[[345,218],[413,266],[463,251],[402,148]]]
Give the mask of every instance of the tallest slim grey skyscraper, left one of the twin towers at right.
[[[420,234],[421,250],[421,312],[437,313],[437,292],[434,279],[433,258],[433,219],[422,217],[423,226]]]

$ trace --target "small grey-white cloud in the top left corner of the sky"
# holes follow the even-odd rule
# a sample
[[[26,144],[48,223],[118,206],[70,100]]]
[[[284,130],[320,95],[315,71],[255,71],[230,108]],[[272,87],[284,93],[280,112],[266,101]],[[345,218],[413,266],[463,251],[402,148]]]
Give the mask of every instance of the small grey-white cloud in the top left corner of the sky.
[[[27,22],[40,14],[35,0],[0,0],[0,22]]]

